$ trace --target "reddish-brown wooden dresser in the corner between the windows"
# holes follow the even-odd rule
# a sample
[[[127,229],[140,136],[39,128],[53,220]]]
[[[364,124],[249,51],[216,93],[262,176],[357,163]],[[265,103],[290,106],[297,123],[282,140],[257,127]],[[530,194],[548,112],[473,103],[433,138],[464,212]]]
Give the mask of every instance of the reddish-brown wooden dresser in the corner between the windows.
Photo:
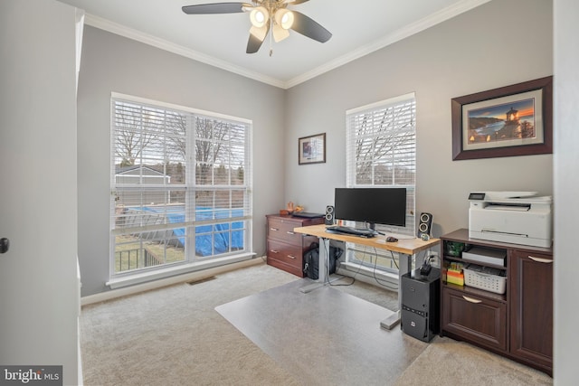
[[[304,252],[317,237],[294,232],[294,228],[324,223],[324,218],[305,219],[289,215],[268,214],[267,262],[269,265],[304,277]]]

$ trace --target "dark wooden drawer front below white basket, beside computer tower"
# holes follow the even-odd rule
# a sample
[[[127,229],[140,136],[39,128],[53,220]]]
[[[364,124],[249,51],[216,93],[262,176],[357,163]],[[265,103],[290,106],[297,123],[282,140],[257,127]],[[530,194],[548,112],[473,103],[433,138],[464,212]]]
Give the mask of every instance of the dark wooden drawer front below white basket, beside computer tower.
[[[442,329],[499,350],[507,350],[507,305],[442,288]]]

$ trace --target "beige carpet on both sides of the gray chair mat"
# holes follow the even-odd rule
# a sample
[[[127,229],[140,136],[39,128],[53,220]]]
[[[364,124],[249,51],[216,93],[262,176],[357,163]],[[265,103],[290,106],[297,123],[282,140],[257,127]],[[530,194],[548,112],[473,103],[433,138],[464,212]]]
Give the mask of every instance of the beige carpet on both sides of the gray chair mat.
[[[184,283],[83,306],[84,382],[89,386],[306,384],[299,373],[289,372],[214,310],[216,306],[297,280],[301,279],[263,264],[218,275],[214,280],[193,286]],[[357,297],[366,300],[390,297],[388,302],[395,302],[395,294],[390,291],[356,285],[330,289],[356,293]],[[331,331],[331,324],[332,320],[328,320],[326,331]],[[401,342],[408,340],[419,348],[422,345],[422,352],[413,362],[408,361],[404,368],[397,370],[400,373],[397,379],[392,376],[387,382],[375,380],[373,383],[552,384],[546,374],[468,344],[439,337],[431,344],[423,344],[403,334],[399,328],[390,333],[399,334],[396,339]],[[339,337],[340,334],[332,334],[327,340]],[[459,351],[456,346],[464,347]],[[328,383],[321,374],[329,367],[325,368],[322,360],[331,356],[327,355],[326,346],[317,347],[320,376],[311,384],[325,385]],[[300,352],[297,360],[307,363],[306,351]],[[345,353],[342,362],[347,358]],[[525,380],[528,381],[516,383]],[[336,384],[353,383],[345,380]]]

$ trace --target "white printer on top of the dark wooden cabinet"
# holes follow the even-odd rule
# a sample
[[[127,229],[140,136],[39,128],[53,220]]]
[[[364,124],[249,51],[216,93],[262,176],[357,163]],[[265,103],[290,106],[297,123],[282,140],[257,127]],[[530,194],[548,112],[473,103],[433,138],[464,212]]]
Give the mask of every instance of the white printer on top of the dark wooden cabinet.
[[[469,195],[469,237],[551,247],[551,196],[536,192],[481,192]]]

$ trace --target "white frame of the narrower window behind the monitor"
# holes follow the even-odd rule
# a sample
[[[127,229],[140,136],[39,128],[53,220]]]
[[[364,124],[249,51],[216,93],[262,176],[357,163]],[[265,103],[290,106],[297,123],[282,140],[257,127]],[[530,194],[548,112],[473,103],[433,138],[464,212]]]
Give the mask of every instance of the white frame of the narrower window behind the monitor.
[[[387,119],[384,119],[387,118]],[[386,120],[384,122],[384,120]],[[360,132],[361,122],[364,122],[365,134]],[[370,122],[368,124],[368,122]],[[376,165],[381,165],[384,161],[383,155],[372,154],[367,151],[365,155],[371,155],[372,168],[371,176],[365,176],[364,182],[358,182],[356,175],[356,165],[358,165],[358,151],[356,150],[356,141],[365,138],[368,142],[384,141],[388,143],[389,139],[384,140],[384,134],[393,133],[392,141],[401,141],[397,139],[404,137],[401,151],[394,148],[394,152],[389,152],[388,164],[392,167],[391,184],[375,184],[378,175],[375,173],[378,169]],[[360,142],[357,142],[359,145]],[[403,154],[396,154],[396,152]],[[396,169],[402,166],[407,170],[403,173],[402,181],[396,180]],[[346,111],[346,187],[348,188],[368,188],[368,187],[403,187],[406,188],[406,226],[394,227],[376,224],[376,230],[383,231],[387,234],[393,234],[399,237],[413,237],[415,227],[415,191],[416,191],[416,98],[414,93],[408,93],[392,99],[381,100],[359,108],[352,108]],[[360,224],[355,225],[360,226]],[[363,226],[363,225],[362,225]],[[375,268],[375,270],[385,271],[388,278],[397,281],[398,272],[398,255],[390,254],[386,251],[376,251],[357,244],[346,245],[346,268],[347,263],[356,268]]]

